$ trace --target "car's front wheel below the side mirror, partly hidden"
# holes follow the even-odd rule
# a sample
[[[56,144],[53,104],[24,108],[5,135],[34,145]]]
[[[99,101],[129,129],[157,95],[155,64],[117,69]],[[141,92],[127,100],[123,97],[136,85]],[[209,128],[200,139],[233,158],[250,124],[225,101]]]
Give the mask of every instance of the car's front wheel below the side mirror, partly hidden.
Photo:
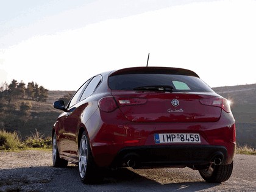
[[[52,164],[55,168],[65,168],[68,165],[68,161],[60,158],[56,133],[52,137]]]

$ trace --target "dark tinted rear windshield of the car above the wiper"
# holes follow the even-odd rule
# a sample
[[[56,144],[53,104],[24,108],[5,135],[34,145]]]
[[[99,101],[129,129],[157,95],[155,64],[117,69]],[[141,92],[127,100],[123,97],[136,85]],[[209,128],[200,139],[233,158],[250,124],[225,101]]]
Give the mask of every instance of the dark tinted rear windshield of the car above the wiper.
[[[112,90],[133,90],[138,87],[166,85],[173,92],[211,91],[201,79],[194,76],[173,74],[121,74],[108,77],[108,86]]]

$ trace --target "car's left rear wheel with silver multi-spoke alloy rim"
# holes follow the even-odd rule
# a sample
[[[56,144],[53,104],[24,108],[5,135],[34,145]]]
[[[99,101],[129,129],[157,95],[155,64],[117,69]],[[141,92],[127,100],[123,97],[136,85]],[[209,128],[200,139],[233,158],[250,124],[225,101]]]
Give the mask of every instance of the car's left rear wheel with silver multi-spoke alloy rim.
[[[82,133],[79,145],[79,175],[85,184],[98,183],[103,179],[101,171],[94,163],[90,142],[86,133]]]

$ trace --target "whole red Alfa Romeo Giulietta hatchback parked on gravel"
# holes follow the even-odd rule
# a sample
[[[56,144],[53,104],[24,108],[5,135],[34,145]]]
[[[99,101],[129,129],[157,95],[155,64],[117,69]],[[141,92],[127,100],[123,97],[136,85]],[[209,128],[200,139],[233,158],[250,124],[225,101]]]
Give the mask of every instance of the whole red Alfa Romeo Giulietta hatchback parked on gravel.
[[[136,67],[87,80],[52,128],[55,167],[79,165],[84,183],[101,168],[185,168],[207,182],[232,174],[235,120],[227,99],[193,71]]]

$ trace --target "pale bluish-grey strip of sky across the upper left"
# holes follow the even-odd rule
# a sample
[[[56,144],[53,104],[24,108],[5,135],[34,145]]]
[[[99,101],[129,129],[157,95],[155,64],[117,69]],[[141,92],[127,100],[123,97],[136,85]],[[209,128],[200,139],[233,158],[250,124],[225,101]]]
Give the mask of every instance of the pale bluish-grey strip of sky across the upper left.
[[[11,3],[5,3],[7,5],[0,5],[0,10],[2,8],[2,13],[5,13],[0,18],[0,42],[2,42],[4,48],[8,48],[9,46],[20,43],[20,41],[37,35],[51,35],[65,30],[85,27],[88,24],[121,19],[176,5],[212,1],[94,0],[86,1],[84,4],[80,1],[46,1],[30,2],[29,5],[18,4],[19,2],[16,2],[18,6],[15,9]],[[40,6],[36,6],[37,4]],[[9,8],[8,12],[5,10],[6,7]],[[21,7],[21,10],[19,7]],[[27,7],[27,10],[25,7]],[[15,17],[12,19],[6,18],[5,20],[5,16],[8,15]]]

